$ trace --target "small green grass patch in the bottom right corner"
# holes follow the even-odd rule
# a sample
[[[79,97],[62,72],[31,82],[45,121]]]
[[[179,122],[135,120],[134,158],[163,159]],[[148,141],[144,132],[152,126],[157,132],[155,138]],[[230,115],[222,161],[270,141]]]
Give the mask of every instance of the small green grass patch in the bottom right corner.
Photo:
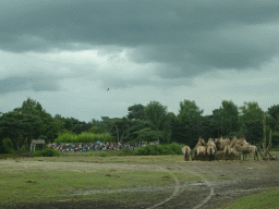
[[[270,209],[279,208],[279,187],[264,189],[263,193],[234,201],[226,209]]]

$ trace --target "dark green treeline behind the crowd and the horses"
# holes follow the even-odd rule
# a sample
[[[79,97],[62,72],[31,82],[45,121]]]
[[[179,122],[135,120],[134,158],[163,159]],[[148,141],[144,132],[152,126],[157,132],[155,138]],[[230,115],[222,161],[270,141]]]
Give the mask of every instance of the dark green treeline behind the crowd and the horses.
[[[89,138],[94,137],[94,140],[99,138],[117,143],[159,139],[160,144],[179,143],[193,147],[199,136],[208,139],[244,134],[251,144],[256,144],[264,138],[264,115],[266,137],[272,131],[272,143],[279,145],[279,104],[264,112],[254,101],[238,107],[232,101],[223,100],[210,115],[203,115],[204,111],[190,100],[180,102],[178,115],[167,109],[158,101],[150,101],[146,106],[128,107],[126,116],[101,116],[101,121],[93,119],[86,123],[60,114],[52,118],[38,101],[28,98],[21,108],[0,112],[0,152],[7,152],[4,147],[11,143],[20,152],[23,146],[28,149],[32,139],[41,138],[52,143],[62,138],[64,142],[68,137],[74,142],[76,138],[90,142]]]

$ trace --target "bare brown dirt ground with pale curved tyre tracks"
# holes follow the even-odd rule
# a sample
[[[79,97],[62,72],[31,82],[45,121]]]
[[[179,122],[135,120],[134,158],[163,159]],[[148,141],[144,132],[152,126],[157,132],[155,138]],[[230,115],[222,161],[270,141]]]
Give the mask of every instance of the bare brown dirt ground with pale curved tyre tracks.
[[[26,165],[43,165],[50,162],[24,162]],[[70,162],[69,162],[70,163]],[[65,162],[54,163],[57,167],[65,165]],[[68,164],[68,163],[66,163]],[[80,163],[84,169],[93,163]],[[61,201],[40,204],[20,204],[16,206],[2,206],[3,208],[218,208],[231,200],[246,195],[262,193],[260,188],[279,186],[279,162],[278,161],[211,161],[211,162],[159,162],[159,163],[94,163],[96,167],[129,168],[138,170],[163,169],[170,174],[174,172],[194,173],[196,175],[207,174],[220,176],[221,180],[206,180],[198,182],[177,182],[173,185],[151,189],[148,187],[133,188],[129,192],[156,190],[170,192],[167,198],[156,202],[138,202],[136,205],[123,205],[97,200]],[[51,165],[51,168],[53,168]],[[172,175],[172,174],[171,174]],[[174,180],[175,176],[173,175]],[[102,190],[104,192],[104,190]],[[106,192],[106,190],[105,190]],[[104,192],[104,193],[105,193]],[[126,190],[113,190],[124,193]],[[98,190],[87,190],[87,194],[96,194]],[[0,207],[1,208],[1,207]]]

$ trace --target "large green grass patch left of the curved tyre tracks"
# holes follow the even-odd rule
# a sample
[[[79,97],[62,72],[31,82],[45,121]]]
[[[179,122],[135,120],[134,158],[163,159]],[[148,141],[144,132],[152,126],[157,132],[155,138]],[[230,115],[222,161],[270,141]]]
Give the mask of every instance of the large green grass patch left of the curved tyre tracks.
[[[119,189],[138,186],[163,186],[168,184],[175,184],[173,176],[165,171],[135,171],[98,168],[92,165],[87,167],[85,171],[73,171],[75,164],[88,161],[181,161],[181,156],[162,156],[162,157],[39,157],[27,158],[13,162],[16,164],[3,163],[0,170],[0,202],[26,202],[26,201],[44,201],[44,200],[61,200],[69,197],[81,199],[81,196],[69,195],[71,190],[86,190],[86,189]],[[21,161],[49,161],[49,162],[73,162],[65,164],[63,168],[43,168],[38,165],[25,168]],[[88,164],[87,164],[88,165]],[[193,174],[185,174],[183,172],[171,172],[180,182],[198,181],[199,176]],[[163,179],[168,176],[169,179]],[[214,176],[204,176],[205,179],[215,179]],[[27,181],[36,183],[26,183]],[[107,196],[107,194],[99,194],[96,198]],[[83,196],[86,198],[86,196]],[[131,198],[133,194],[131,194]],[[148,196],[147,196],[148,197]],[[84,199],[83,198],[83,199]],[[125,196],[122,199],[125,199]],[[132,198],[133,199],[133,198]],[[135,198],[136,199],[136,198]]]

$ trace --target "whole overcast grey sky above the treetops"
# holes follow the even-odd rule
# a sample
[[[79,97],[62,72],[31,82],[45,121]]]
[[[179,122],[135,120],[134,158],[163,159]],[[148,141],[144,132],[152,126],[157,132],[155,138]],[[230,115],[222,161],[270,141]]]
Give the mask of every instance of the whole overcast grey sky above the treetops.
[[[0,1],[0,111],[122,118],[151,100],[204,115],[279,103],[279,1]],[[109,88],[109,90],[107,90]]]

